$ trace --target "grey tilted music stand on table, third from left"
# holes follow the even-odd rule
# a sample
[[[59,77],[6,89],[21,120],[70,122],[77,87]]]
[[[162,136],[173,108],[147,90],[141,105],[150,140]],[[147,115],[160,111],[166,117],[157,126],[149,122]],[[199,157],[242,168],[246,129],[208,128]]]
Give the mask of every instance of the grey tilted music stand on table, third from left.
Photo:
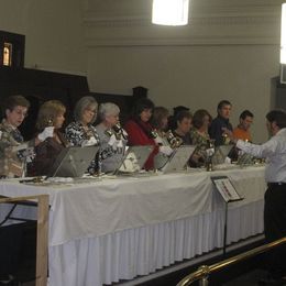
[[[183,172],[186,169],[186,165],[195,150],[195,145],[182,145],[178,148],[174,150],[173,154],[167,157],[167,161],[164,165],[157,165],[156,167],[165,174]]]

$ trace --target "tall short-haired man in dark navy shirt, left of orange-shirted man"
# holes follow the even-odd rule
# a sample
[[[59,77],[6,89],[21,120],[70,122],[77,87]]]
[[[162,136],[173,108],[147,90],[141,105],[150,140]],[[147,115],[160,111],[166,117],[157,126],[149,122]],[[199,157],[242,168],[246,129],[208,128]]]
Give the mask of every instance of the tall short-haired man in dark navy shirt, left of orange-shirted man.
[[[230,112],[231,112],[231,103],[228,100],[221,100],[218,105],[217,111],[218,116],[212,120],[209,128],[210,139],[215,140],[215,145],[223,145],[226,130],[232,131],[232,125],[230,123]]]

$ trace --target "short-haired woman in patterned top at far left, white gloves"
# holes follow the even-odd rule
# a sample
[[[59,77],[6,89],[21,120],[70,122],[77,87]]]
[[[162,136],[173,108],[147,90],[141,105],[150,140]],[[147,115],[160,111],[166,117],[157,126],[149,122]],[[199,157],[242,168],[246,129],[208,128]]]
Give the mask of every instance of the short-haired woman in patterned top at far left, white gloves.
[[[4,119],[0,124],[0,177],[21,177],[34,156],[33,146],[53,136],[53,129],[44,129],[35,139],[24,142],[19,127],[24,121],[30,102],[23,96],[11,96],[4,100]]]

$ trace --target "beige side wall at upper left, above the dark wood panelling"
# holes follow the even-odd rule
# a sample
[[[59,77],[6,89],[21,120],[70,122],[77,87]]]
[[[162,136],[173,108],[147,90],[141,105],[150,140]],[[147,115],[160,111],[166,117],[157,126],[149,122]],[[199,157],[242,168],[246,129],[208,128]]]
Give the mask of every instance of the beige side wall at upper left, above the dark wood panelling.
[[[86,74],[81,1],[1,1],[0,28],[25,35],[25,67]]]

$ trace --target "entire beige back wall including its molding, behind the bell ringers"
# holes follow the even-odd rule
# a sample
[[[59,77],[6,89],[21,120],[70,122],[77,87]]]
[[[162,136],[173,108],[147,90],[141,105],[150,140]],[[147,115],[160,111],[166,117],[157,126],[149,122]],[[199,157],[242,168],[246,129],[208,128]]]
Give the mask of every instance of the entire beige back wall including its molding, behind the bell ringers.
[[[100,1],[99,1],[100,2]],[[233,103],[231,122],[250,109],[255,142],[267,139],[265,113],[272,108],[271,79],[279,74],[282,0],[193,0],[187,26],[151,24],[151,0],[87,1],[85,14],[91,90],[132,94],[148,88],[156,105],[191,111]],[[107,7],[109,6],[109,9]],[[139,12],[142,11],[142,13]]]

